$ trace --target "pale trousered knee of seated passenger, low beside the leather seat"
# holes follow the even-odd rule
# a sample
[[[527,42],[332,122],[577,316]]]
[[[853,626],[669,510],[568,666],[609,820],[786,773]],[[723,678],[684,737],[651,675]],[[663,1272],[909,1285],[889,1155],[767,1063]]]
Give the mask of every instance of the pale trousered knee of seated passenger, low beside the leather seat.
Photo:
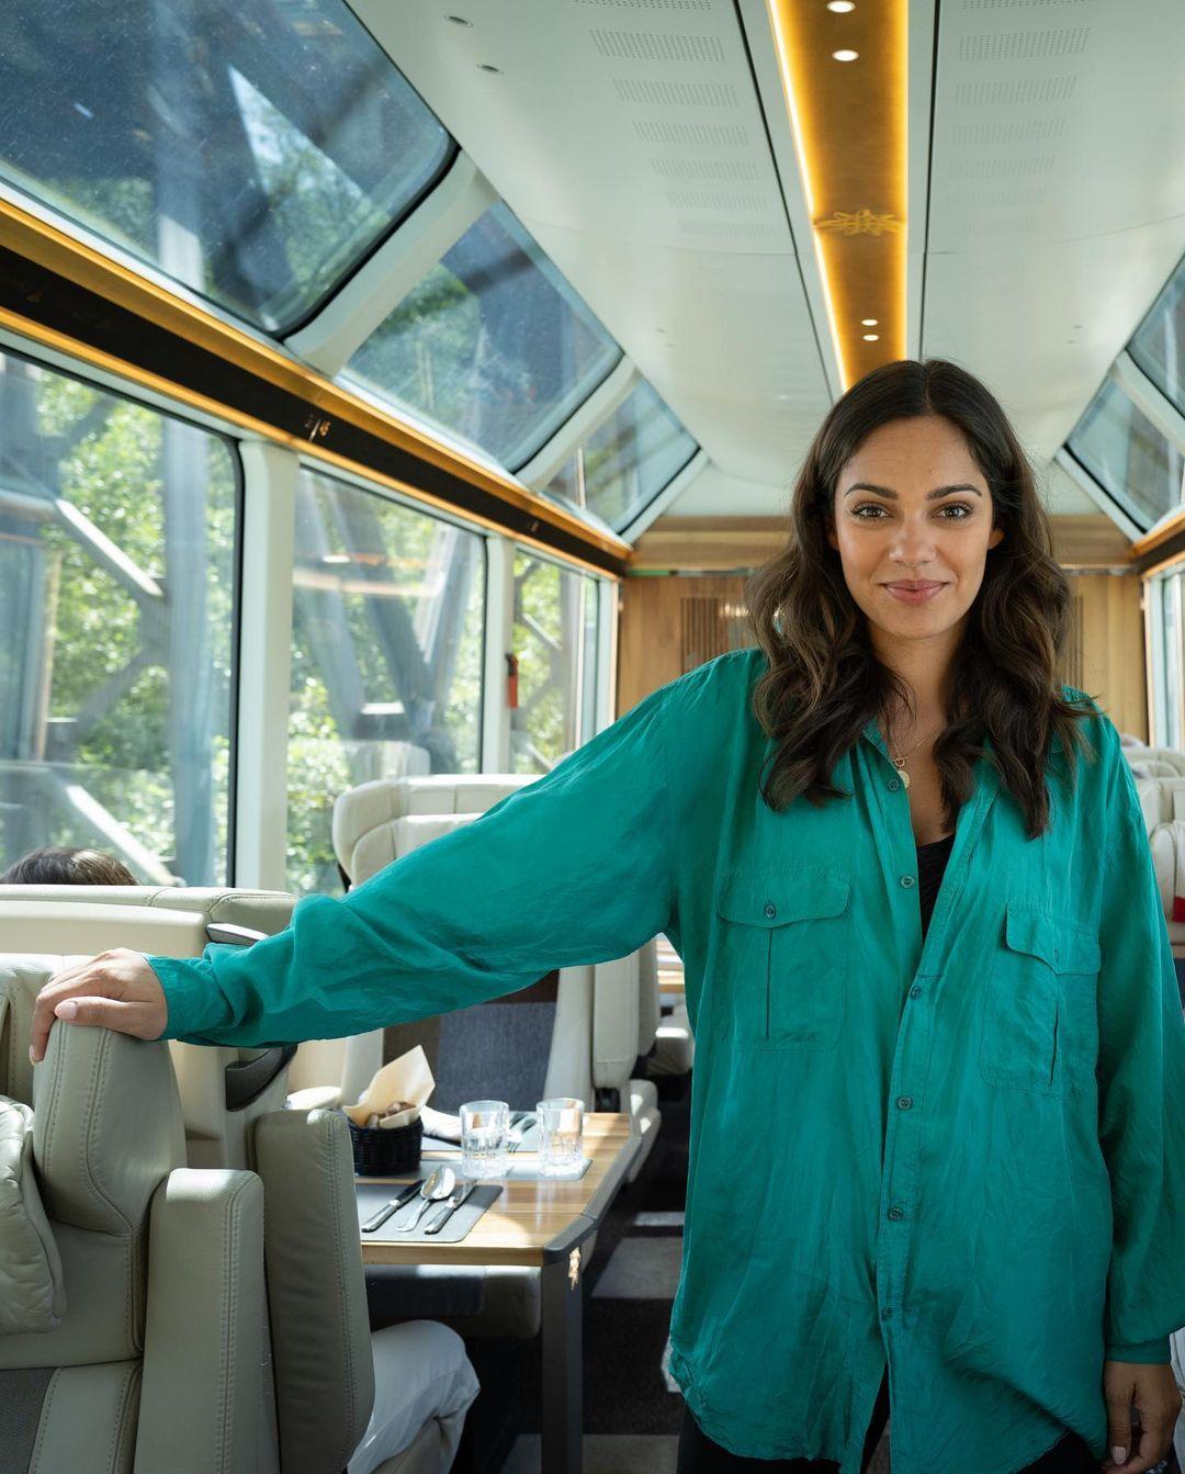
[[[374,1411],[346,1474],[371,1474],[401,1453],[435,1418],[452,1428],[455,1443],[442,1449],[441,1471],[452,1464],[464,1414],[480,1391],[464,1341],[447,1325],[408,1321],[371,1337]]]

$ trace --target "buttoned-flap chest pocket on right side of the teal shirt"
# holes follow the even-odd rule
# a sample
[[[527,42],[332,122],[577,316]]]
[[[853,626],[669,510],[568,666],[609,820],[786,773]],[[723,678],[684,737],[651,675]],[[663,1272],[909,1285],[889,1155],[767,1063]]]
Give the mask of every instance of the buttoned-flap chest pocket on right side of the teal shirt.
[[[1060,1095],[1094,1083],[1098,937],[1010,901],[990,958],[979,1067],[992,1085]]]

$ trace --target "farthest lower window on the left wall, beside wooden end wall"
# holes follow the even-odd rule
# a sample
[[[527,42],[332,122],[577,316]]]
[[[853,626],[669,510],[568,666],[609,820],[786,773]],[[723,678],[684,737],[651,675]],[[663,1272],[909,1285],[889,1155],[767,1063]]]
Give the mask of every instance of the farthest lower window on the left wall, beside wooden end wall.
[[[548,772],[592,736],[597,584],[519,548],[514,629],[519,705],[510,713],[510,771]]]

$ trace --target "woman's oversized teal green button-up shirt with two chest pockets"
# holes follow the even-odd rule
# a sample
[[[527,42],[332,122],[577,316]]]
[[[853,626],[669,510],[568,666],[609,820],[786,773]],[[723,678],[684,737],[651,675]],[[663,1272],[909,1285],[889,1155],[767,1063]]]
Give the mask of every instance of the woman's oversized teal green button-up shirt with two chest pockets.
[[[1130,771],[1088,697],[1027,840],[988,753],[923,943],[875,722],[852,796],[761,799],[765,656],[721,656],[538,783],[248,951],[152,958],[167,1036],[277,1044],[463,1008],[665,932],[696,1035],[671,1371],[715,1442],[858,1474],[1105,1455],[1104,1358],[1185,1325],[1185,1019]]]

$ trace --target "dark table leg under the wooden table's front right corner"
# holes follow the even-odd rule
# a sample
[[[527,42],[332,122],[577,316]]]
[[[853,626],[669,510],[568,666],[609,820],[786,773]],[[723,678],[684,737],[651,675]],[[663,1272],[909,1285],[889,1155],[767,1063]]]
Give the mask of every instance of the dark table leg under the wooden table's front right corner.
[[[584,1247],[572,1244],[539,1271],[542,1310],[542,1470],[584,1467]]]

